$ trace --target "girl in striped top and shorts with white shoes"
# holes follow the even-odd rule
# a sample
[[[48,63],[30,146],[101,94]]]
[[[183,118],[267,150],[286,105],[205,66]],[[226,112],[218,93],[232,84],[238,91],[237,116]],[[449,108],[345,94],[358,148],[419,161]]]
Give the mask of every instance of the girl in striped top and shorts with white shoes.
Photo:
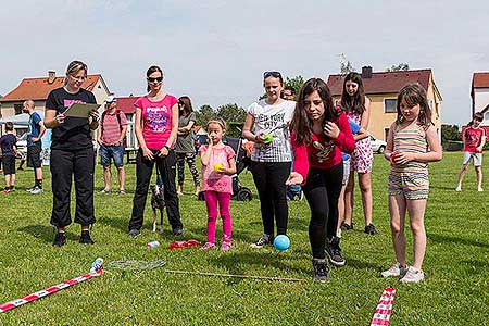
[[[424,279],[422,265],[426,251],[427,163],[440,161],[442,152],[426,92],[419,84],[406,85],[399,91],[397,111],[398,117],[390,126],[384,153],[391,165],[389,211],[397,262],[381,275],[401,277],[402,283],[419,283]],[[405,259],[406,211],[413,234],[413,266],[408,266]]]

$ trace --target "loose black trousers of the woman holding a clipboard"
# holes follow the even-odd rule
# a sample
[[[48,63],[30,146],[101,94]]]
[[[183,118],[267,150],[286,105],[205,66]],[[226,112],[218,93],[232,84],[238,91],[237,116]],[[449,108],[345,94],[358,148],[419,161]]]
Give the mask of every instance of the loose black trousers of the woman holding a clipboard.
[[[72,223],[70,199],[72,177],[75,179],[75,223],[90,225],[93,215],[93,148],[77,151],[51,150],[50,170],[52,177],[51,224],[65,227]]]

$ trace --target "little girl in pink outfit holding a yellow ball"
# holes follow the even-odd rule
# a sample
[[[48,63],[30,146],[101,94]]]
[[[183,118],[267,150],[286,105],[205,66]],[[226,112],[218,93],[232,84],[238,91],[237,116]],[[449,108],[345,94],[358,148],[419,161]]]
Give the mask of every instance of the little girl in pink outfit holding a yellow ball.
[[[226,123],[222,118],[213,118],[208,123],[208,145],[199,149],[202,162],[202,190],[208,208],[208,240],[201,248],[208,250],[215,247],[215,223],[217,203],[223,218],[223,241],[221,250],[231,248],[231,218],[229,202],[233,193],[231,175],[236,173],[236,160],[233,149],[223,143]]]

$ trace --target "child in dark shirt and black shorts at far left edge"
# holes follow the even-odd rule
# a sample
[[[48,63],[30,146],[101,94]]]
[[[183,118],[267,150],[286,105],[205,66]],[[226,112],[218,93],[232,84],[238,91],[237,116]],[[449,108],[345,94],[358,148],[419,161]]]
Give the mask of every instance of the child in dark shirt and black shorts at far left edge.
[[[14,135],[13,123],[5,124],[7,134],[0,138],[2,149],[3,175],[5,176],[5,188],[2,193],[15,191],[15,155],[17,154],[17,137]]]

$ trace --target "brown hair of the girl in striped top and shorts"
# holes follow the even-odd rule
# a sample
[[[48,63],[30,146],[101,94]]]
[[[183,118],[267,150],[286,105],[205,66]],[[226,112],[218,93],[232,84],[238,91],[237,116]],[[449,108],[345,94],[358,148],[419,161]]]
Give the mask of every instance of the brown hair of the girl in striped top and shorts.
[[[396,123],[398,125],[404,122],[404,116],[402,115],[401,112],[402,100],[404,100],[405,104],[409,108],[413,108],[419,104],[419,114],[417,116],[417,123],[425,129],[427,129],[431,125],[431,109],[429,108],[425,89],[417,83],[408,84],[406,86],[401,88],[398,95],[398,104],[397,104],[398,117],[396,120]]]

